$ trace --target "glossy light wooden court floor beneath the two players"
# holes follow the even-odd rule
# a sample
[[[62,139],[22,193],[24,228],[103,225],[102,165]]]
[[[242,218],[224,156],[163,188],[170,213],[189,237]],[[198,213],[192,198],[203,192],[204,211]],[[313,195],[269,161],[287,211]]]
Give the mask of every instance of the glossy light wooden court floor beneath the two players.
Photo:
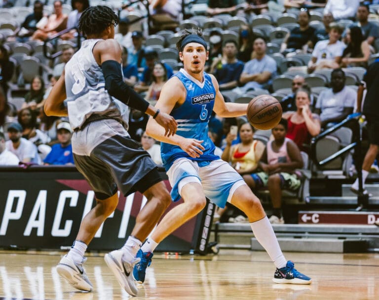
[[[59,278],[63,252],[0,251],[0,300],[124,300],[104,262],[92,254],[85,264],[92,293],[76,292]],[[221,250],[218,255],[154,254],[139,299],[153,300],[378,300],[379,254],[285,253],[312,277],[311,285],[275,284],[265,252]]]

